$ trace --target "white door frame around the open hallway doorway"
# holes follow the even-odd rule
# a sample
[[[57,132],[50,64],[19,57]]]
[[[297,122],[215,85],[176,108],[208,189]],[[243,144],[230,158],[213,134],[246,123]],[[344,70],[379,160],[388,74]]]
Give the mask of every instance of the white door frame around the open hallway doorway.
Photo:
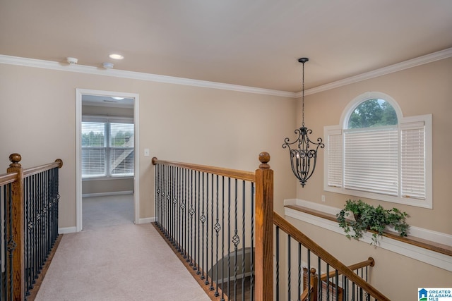
[[[135,164],[134,164],[134,176],[133,176],[133,204],[134,204],[134,223],[139,223],[140,219],[140,156],[139,156],[139,94],[126,93],[126,92],[113,92],[102,90],[90,90],[76,88],[76,231],[80,232],[83,229],[82,219],[82,141],[81,141],[81,128],[82,128],[82,96],[98,95],[105,97],[126,97],[133,98],[133,125],[134,125],[134,151],[135,151]]]

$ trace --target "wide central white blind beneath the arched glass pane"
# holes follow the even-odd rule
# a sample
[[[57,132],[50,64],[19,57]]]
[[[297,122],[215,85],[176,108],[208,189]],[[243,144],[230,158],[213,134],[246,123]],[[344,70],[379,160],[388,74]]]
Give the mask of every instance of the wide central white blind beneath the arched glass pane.
[[[344,186],[398,195],[398,129],[345,130]]]

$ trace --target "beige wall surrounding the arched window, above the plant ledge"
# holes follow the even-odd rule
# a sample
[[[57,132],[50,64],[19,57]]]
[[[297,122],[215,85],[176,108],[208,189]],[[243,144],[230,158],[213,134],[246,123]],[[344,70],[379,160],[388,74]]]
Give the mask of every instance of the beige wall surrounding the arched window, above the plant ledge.
[[[345,106],[364,92],[383,92],[396,100],[403,116],[432,114],[433,120],[433,209],[407,205],[397,205],[410,215],[412,226],[452,235],[452,202],[449,191],[452,171],[450,152],[452,147],[452,59],[417,66],[379,78],[364,80],[325,92],[305,97],[305,123],[314,130],[314,137],[323,137],[324,125],[338,125]],[[319,168],[305,188],[297,188],[297,197],[321,203],[321,195],[326,196],[326,204],[342,208],[345,199],[358,199],[349,195],[323,192],[323,151],[319,158]],[[374,202],[392,208],[391,202]]]

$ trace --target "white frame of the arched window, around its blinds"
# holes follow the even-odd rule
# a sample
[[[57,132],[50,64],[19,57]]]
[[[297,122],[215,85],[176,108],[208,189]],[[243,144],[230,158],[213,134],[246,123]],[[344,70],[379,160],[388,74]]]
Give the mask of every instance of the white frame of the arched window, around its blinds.
[[[383,99],[389,104],[391,104],[394,108],[394,110],[397,113],[398,118],[398,195],[397,196],[391,196],[391,195],[382,195],[379,193],[374,192],[366,192],[366,191],[360,191],[360,190],[352,190],[347,189],[344,187],[344,171],[345,171],[345,152],[344,152],[344,132],[347,130],[347,123],[350,119],[350,116],[353,111],[359,106],[359,104],[362,104],[362,102],[365,102],[369,99]],[[425,183],[425,199],[417,199],[415,197],[408,197],[402,195],[402,188],[401,188],[401,133],[405,125],[410,124],[424,124],[424,183]],[[341,168],[335,168],[334,170],[329,168],[330,163],[336,163],[338,164],[338,156],[331,159],[330,158],[330,138],[331,140],[335,140],[335,146],[340,147],[340,155],[339,156],[339,164],[341,165]],[[365,197],[369,199],[377,199],[385,202],[393,202],[397,204],[407,204],[410,206],[415,207],[424,207],[432,209],[433,207],[433,201],[432,201],[432,115],[420,115],[420,116],[410,116],[410,117],[403,117],[402,111],[400,110],[400,106],[398,106],[397,102],[392,99],[387,94],[381,93],[381,92],[366,92],[364,94],[359,95],[358,97],[355,97],[355,99],[352,100],[344,109],[342,116],[340,118],[340,123],[338,125],[326,125],[323,127],[323,141],[325,143],[325,152],[323,156],[323,190],[328,192],[336,192],[343,195],[351,195],[355,197]],[[331,144],[332,147],[334,147],[333,143]],[[337,150],[337,149],[336,149]],[[337,154],[337,153],[336,153]],[[330,161],[331,159],[331,161]],[[335,184],[336,185],[328,185],[329,183],[329,173],[330,171],[335,171],[335,174],[340,173],[340,180],[336,178]],[[340,183],[340,185],[337,185]]]

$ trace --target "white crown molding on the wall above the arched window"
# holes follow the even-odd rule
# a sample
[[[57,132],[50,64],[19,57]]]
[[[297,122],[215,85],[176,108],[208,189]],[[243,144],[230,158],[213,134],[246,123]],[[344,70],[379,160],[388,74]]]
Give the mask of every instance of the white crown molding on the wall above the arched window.
[[[420,65],[424,65],[426,63],[432,63],[434,61],[439,61],[442,59],[448,59],[452,56],[452,48],[448,48],[448,49],[444,49],[441,51],[436,51],[432,54],[427,54],[424,56],[420,56],[418,58],[415,59],[410,59],[408,61],[403,61],[400,63],[395,63],[391,66],[386,66],[383,68],[379,68],[373,71],[369,71],[367,73],[362,73],[359,75],[355,75],[352,76],[351,78],[345,78],[343,80],[338,80],[335,82],[330,82],[329,84],[326,85],[321,85],[318,87],[314,87],[311,88],[309,90],[305,90],[304,91],[304,95],[309,95],[309,94],[316,94],[319,92],[323,92],[326,90],[331,90],[331,89],[335,89],[337,87],[343,87],[345,85],[350,85],[353,84],[355,82],[361,82],[362,80],[369,80],[371,78],[376,78],[379,77],[381,75],[386,75],[389,73],[395,73],[401,70],[405,70],[408,68],[412,68],[412,67],[416,67],[416,66],[420,66]],[[302,92],[297,92],[296,96],[297,98],[302,97]]]

